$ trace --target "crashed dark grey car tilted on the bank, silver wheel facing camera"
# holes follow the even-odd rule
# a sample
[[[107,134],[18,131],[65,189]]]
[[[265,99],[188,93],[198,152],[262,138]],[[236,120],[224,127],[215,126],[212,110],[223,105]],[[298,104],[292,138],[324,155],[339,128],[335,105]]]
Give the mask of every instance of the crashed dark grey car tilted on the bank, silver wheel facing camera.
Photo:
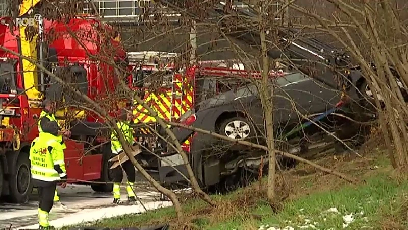
[[[353,84],[360,78],[359,73],[350,76],[349,80]],[[333,137],[326,132],[336,132],[338,131],[336,128],[345,124],[343,117],[336,118],[326,114],[327,111],[335,110],[341,100],[341,90],[334,80],[323,82],[302,73],[292,73],[271,78],[269,83],[269,87],[274,86],[272,103],[277,148],[292,153],[307,152],[330,142],[329,139]],[[257,83],[247,84],[203,100],[195,110],[185,113],[180,122],[232,139],[265,144],[264,117],[258,85]],[[355,87],[348,88],[351,88],[348,91],[351,97],[349,101],[358,101],[356,100],[359,98],[356,93],[358,90]],[[349,107],[339,108],[336,112],[348,114]],[[311,123],[303,116],[315,118],[316,122],[324,126],[325,131],[316,128],[313,125],[315,123]],[[316,119],[319,116],[322,119]],[[330,119],[327,119],[328,117]],[[308,122],[310,125],[305,126]],[[189,153],[190,163],[202,186],[217,185],[220,182],[235,184],[232,176],[237,177],[243,169],[257,172],[262,157],[263,164],[267,165],[265,151],[220,141],[212,135],[195,133],[180,127],[173,127],[173,132],[180,143],[193,136]],[[167,155],[163,155],[161,167],[159,167],[162,183],[172,185],[184,180],[174,167],[187,176],[181,156],[169,151]]]

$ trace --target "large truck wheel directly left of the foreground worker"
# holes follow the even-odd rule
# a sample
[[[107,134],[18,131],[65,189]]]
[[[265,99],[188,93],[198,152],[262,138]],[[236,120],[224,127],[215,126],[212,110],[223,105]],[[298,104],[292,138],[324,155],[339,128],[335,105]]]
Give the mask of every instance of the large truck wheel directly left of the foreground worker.
[[[10,198],[14,203],[27,203],[33,190],[29,155],[20,153],[15,171],[10,175]]]

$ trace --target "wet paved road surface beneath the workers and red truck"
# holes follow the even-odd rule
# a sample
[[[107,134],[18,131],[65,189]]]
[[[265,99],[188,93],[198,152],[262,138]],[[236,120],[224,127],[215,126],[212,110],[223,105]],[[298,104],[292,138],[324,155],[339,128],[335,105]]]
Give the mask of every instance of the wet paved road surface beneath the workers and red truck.
[[[160,194],[149,187],[145,182],[136,185],[136,195],[143,203],[157,201]],[[50,220],[55,220],[68,214],[77,213],[83,209],[100,209],[112,205],[112,194],[95,193],[90,186],[68,185],[65,189],[58,187],[58,193],[66,209],[53,209],[50,212]],[[122,199],[126,199],[126,189],[121,189]],[[0,229],[22,227],[38,223],[38,196],[36,190],[28,204],[16,205],[0,201]]]

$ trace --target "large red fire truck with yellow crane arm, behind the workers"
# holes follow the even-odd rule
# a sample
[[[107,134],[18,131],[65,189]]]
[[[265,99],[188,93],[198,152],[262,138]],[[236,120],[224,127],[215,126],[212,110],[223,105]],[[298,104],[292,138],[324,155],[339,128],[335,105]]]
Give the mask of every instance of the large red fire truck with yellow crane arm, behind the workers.
[[[39,2],[23,1],[20,16]],[[40,18],[38,34],[32,34],[30,39],[25,33],[27,27],[13,27],[11,21],[8,17],[0,18],[2,47],[38,60],[57,76],[69,73],[74,87],[92,99],[104,100],[114,93],[118,77],[113,65],[92,58],[92,55],[99,55],[103,59],[112,53],[116,60],[125,58],[125,52],[119,49],[118,34],[116,37],[99,35],[106,34],[107,30],[113,31],[107,25],[104,33],[100,33],[102,24],[96,19],[78,17],[69,21],[47,21]],[[29,149],[32,140],[38,136],[41,102],[45,97],[70,104],[80,102],[81,98],[66,94],[63,86],[28,60],[4,50],[0,51],[0,59],[0,191],[1,196],[9,197],[9,201],[24,203],[33,189]],[[114,111],[124,105],[106,106],[107,110]],[[70,182],[111,181],[108,173],[110,144],[104,144],[109,131],[104,131],[102,119],[92,112],[72,107],[60,109],[56,117],[61,125],[71,130],[71,139],[66,141],[64,151]],[[109,185],[91,186],[100,192],[112,190]]]

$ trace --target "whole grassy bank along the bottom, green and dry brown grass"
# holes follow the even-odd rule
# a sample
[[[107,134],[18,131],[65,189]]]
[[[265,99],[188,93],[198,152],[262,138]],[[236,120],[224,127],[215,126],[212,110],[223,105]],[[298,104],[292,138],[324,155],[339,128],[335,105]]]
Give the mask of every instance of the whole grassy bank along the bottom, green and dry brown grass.
[[[367,182],[361,185],[348,185],[334,176],[322,176],[319,173],[295,178],[296,195],[284,201],[276,214],[271,205],[264,201],[264,196],[254,197],[253,191],[257,188],[212,196],[219,204],[213,210],[201,200],[187,201],[183,210],[195,229],[251,230],[258,229],[261,225],[299,229],[299,226],[308,224],[313,224],[316,229],[343,229],[343,216],[351,213],[355,220],[346,229],[380,229],[381,226],[392,224],[396,225],[386,229],[408,229],[408,202],[405,202],[408,200],[405,196],[408,181],[397,182],[392,179],[392,171],[387,170],[390,168],[389,160],[384,155],[375,157],[364,166],[360,163],[343,164],[350,167],[350,173],[358,172],[360,178],[366,179]],[[357,166],[362,169],[356,170]],[[370,170],[372,166],[379,168]],[[342,165],[339,167],[344,168]],[[322,184],[319,181],[321,178],[324,178]],[[331,185],[333,181],[336,182],[335,185]],[[306,195],[306,190],[309,195]],[[246,201],[252,202],[243,204],[245,196],[249,196]],[[339,213],[325,212],[330,208],[336,208]],[[174,220],[174,210],[164,208],[140,215],[103,219],[91,225],[117,228],[172,222],[171,229],[180,229],[181,226]]]

